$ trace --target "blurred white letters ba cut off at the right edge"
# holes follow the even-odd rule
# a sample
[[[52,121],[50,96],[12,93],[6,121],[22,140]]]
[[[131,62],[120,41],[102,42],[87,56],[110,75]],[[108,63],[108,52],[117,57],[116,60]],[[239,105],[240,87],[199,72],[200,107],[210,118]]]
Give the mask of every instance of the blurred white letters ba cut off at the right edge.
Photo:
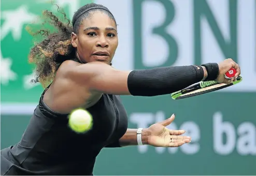
[[[229,155],[236,147],[240,155],[256,155],[256,126],[251,122],[243,122],[236,129],[231,122],[224,122],[222,114],[217,112],[213,116],[214,151],[220,155]],[[223,142],[223,135],[226,142]]]

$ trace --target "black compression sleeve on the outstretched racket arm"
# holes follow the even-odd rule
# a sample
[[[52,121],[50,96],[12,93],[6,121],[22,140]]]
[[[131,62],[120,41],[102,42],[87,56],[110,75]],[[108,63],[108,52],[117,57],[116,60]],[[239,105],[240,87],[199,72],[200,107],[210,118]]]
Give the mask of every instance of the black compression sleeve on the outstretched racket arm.
[[[201,66],[161,67],[134,70],[127,79],[129,91],[135,96],[156,96],[173,93],[202,81]]]

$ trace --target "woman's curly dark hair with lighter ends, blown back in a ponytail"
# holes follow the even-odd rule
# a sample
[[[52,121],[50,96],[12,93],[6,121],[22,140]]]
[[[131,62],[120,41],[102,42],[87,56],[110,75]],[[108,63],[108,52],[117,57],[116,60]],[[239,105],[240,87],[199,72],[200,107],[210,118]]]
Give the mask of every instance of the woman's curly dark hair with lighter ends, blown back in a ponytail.
[[[62,19],[59,15],[57,16],[49,10],[45,10],[42,12],[42,17],[45,18],[42,23],[44,28],[33,32],[33,28],[27,27],[27,31],[29,31],[34,39],[37,39],[37,37],[42,38],[41,41],[36,42],[32,47],[29,54],[29,62],[36,65],[36,78],[32,82],[40,82],[44,88],[52,82],[62,62],[76,59],[76,49],[71,44],[70,36],[72,32],[78,33],[79,25],[84,19],[89,18],[94,11],[101,11],[116,23],[115,18],[105,6],[91,3],[80,7],[75,12],[72,21],[73,26],[70,20],[66,18],[66,13],[58,5],[56,6],[58,7],[57,11],[63,16]],[[102,7],[107,10],[100,8],[90,9],[74,21],[78,14],[92,7]],[[51,31],[47,24],[53,26],[54,31]],[[49,28],[45,28],[46,26]]]

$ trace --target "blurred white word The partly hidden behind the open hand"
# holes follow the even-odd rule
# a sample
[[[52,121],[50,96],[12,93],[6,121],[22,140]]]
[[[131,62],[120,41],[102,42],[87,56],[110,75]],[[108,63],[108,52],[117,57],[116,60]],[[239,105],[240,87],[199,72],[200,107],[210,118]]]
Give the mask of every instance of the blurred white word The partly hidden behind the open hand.
[[[165,114],[163,111],[158,111],[155,115],[153,113],[133,113],[130,117],[132,123],[137,124],[137,127],[149,127],[153,123],[161,122],[165,120]],[[177,130],[177,125],[172,122],[167,126],[168,129]],[[200,140],[200,128],[192,121],[183,122],[179,129],[186,129],[186,135],[191,136],[194,140],[191,143],[187,143],[180,147],[181,152],[185,154],[195,154],[200,150],[200,145],[198,141]],[[137,146],[139,153],[146,153],[148,151],[148,146]],[[155,148],[155,152],[162,154],[167,148],[158,147]],[[179,148],[168,148],[169,153],[178,152]]]

